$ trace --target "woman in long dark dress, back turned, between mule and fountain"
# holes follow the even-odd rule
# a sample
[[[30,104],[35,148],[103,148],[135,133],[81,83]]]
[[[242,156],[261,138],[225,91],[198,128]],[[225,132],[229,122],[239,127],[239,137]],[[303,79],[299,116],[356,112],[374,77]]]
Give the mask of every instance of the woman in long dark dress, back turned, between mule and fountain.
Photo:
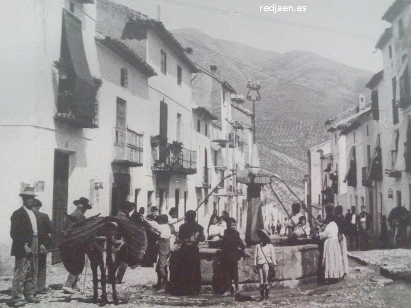
[[[170,288],[173,295],[196,295],[201,289],[198,243],[206,240],[204,228],[195,221],[196,213],[188,210],[186,222],[180,226],[181,247],[170,257]]]

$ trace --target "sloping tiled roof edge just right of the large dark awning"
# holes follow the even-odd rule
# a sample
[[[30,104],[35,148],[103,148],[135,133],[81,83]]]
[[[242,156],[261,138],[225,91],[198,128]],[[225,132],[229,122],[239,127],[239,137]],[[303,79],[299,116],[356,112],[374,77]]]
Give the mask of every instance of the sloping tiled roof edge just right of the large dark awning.
[[[141,59],[141,57],[137,53],[135,53],[131,48],[126,46],[121,41],[116,40],[116,38],[106,36],[104,40],[101,38],[96,38],[96,41],[116,53],[118,56],[127,61],[130,65],[132,65],[147,77],[157,75],[154,69],[143,59]]]

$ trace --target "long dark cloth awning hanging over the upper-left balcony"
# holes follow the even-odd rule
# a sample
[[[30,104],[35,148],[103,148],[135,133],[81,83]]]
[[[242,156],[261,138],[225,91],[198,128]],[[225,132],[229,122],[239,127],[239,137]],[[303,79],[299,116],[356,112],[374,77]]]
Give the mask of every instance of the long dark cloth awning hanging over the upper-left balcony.
[[[81,21],[67,10],[63,9],[62,49],[66,47],[76,79],[73,95],[76,98],[77,111],[88,115],[91,119],[96,116],[97,86],[91,76],[83,44]]]

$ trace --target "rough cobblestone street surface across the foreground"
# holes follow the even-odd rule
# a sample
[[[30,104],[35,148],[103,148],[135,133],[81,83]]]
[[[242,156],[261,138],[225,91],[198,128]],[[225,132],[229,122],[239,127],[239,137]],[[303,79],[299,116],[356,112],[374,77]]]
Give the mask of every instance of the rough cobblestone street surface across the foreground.
[[[66,279],[65,269],[61,264],[54,265],[48,274],[48,284],[53,290],[48,295],[38,295],[40,304],[27,304],[26,307],[90,307],[94,304],[89,299],[92,295],[90,269],[86,276],[84,294],[69,295],[61,290]],[[0,279],[0,306],[7,306],[11,293],[11,277]],[[118,294],[123,307],[192,307],[192,306],[219,306],[219,307],[409,307],[411,301],[411,285],[405,282],[395,282],[379,274],[379,267],[360,265],[350,260],[349,276],[342,282],[332,285],[319,286],[316,283],[307,284],[302,288],[284,288],[272,290],[268,301],[236,302],[234,297],[222,297],[208,292],[203,288],[199,296],[174,297],[158,295],[152,284],[155,283],[154,268],[138,267],[128,269],[126,282],[118,285]],[[84,276],[81,278],[83,288]],[[108,287],[110,306],[111,288]],[[100,291],[101,293],[101,291]],[[257,297],[257,292],[246,295]]]

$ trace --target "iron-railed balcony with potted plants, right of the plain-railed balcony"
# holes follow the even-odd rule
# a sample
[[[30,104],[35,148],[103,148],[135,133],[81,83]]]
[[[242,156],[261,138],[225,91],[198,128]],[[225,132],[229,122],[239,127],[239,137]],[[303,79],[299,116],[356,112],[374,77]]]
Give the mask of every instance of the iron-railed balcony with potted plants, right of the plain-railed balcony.
[[[176,172],[185,175],[197,173],[197,153],[182,146],[175,148],[175,143],[152,146],[154,171]]]

